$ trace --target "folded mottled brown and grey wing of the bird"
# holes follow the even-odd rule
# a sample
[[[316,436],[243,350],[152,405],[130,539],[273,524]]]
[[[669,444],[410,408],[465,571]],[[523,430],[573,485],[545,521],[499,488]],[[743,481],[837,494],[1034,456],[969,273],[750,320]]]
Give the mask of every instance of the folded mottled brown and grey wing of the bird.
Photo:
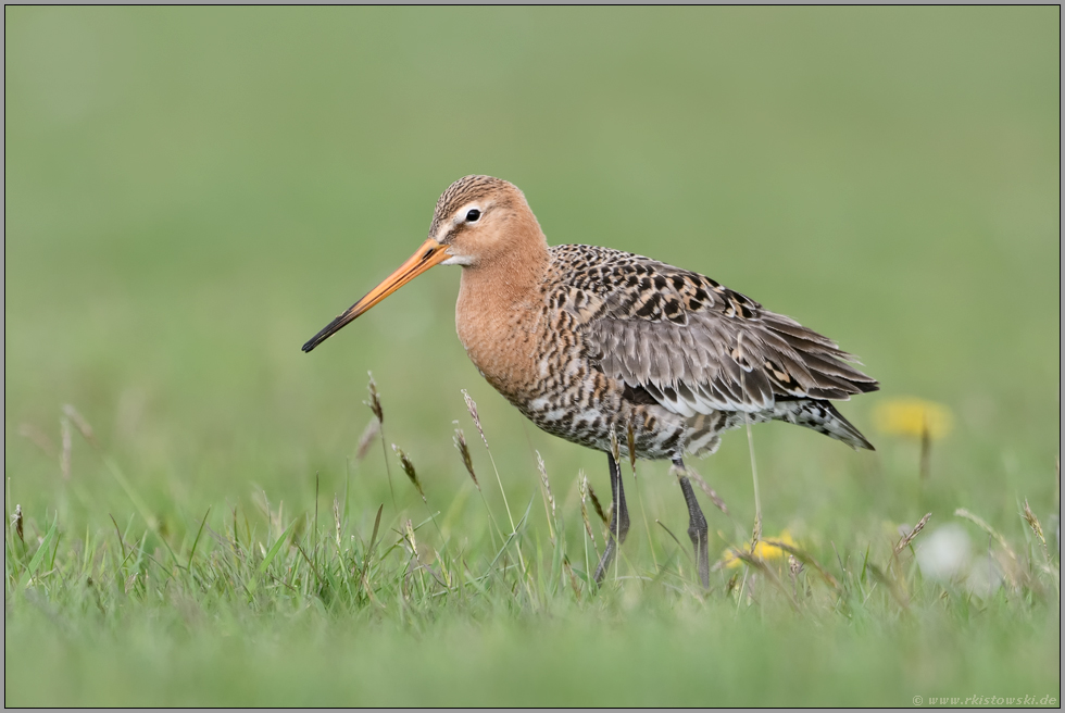
[[[753,412],[778,398],[845,400],[878,388],[836,342],[709,277],[614,250],[553,250],[573,253],[565,301],[590,361],[675,413]]]

